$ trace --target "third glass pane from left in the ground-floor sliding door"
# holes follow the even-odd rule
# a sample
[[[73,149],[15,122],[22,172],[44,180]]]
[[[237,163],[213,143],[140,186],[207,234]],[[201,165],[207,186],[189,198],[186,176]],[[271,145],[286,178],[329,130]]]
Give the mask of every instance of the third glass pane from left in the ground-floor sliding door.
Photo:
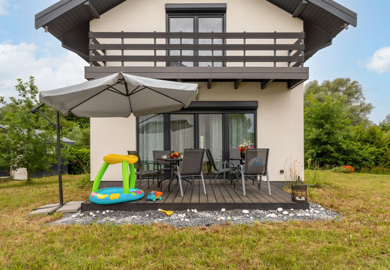
[[[215,162],[222,161],[222,114],[199,114],[199,148],[210,149]],[[203,173],[213,171],[204,155]]]

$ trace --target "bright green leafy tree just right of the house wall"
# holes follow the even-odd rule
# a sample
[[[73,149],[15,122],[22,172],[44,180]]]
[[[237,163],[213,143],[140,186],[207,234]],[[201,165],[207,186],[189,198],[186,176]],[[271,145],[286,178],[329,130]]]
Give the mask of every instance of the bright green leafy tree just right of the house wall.
[[[351,120],[342,102],[326,96],[323,102],[308,95],[304,108],[305,160],[312,158],[323,165],[355,165],[358,144],[351,136]]]

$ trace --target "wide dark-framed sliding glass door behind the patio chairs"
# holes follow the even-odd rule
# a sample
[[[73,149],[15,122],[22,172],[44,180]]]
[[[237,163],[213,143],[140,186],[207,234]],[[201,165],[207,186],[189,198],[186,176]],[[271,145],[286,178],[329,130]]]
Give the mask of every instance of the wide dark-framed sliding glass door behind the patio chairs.
[[[138,117],[138,150],[142,161],[153,160],[153,150],[180,153],[186,148],[210,149],[215,162],[229,159],[230,149],[243,140],[256,147],[255,111],[179,111]],[[203,172],[211,175],[204,155]]]

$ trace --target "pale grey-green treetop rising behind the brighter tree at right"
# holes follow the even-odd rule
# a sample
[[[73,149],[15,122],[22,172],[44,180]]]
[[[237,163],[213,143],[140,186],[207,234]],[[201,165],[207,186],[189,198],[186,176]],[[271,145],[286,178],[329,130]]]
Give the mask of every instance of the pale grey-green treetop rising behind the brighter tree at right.
[[[362,85],[356,80],[336,78],[333,81],[324,80],[321,84],[314,80],[305,85],[305,107],[311,103],[307,99],[308,96],[321,103],[325,102],[327,96],[332,96],[340,102],[342,110],[346,113],[345,116],[351,119],[351,124],[363,124],[365,126],[371,124],[369,115],[374,106],[365,101]]]

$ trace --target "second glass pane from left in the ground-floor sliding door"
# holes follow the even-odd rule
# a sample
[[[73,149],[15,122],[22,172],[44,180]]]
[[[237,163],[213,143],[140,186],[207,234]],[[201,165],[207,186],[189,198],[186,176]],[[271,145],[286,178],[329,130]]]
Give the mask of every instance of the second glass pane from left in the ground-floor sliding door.
[[[194,115],[170,115],[171,150],[184,153],[186,148],[194,148]]]

